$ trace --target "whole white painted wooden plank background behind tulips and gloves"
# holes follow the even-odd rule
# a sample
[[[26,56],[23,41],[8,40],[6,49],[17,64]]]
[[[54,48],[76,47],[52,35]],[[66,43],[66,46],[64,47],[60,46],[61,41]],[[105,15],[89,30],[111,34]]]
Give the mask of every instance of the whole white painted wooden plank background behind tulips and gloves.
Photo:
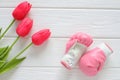
[[[12,10],[24,0],[0,0],[0,26],[3,30],[12,20]],[[20,39],[11,51],[12,58],[31,40],[30,36],[50,28],[51,38],[40,47],[25,52],[27,59],[16,69],[0,75],[0,80],[120,80],[120,0],[29,0],[33,4],[29,17],[34,19],[30,35]],[[15,27],[0,41],[10,45],[16,37]],[[76,66],[72,71],[59,63],[69,37],[75,32],[87,32],[94,38],[90,48],[101,42],[114,50],[103,70],[87,77]],[[23,56],[24,56],[23,55]]]

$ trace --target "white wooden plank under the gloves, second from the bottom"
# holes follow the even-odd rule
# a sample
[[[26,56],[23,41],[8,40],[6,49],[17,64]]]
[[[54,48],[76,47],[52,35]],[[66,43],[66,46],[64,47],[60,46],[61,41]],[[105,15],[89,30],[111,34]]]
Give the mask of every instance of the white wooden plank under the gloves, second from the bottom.
[[[11,44],[13,40],[14,38],[6,38],[2,43],[0,43],[0,46]],[[68,38],[50,38],[40,47],[32,46],[24,53],[24,55],[27,55],[27,59],[21,64],[21,66],[61,67],[60,60],[64,55],[67,40]],[[12,49],[10,58],[22,50],[28,42],[31,42],[30,39],[20,39]],[[114,53],[106,61],[105,67],[120,67],[120,39],[95,39],[90,48],[93,48],[102,42],[108,43],[114,51]]]

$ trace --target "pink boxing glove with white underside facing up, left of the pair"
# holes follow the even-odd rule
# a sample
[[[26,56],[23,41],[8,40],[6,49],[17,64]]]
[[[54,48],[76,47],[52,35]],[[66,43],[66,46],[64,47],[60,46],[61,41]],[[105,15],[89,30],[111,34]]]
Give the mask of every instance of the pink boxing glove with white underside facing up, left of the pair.
[[[74,34],[66,45],[67,54],[63,56],[61,64],[67,69],[72,69],[92,42],[92,37],[88,34],[80,32]]]

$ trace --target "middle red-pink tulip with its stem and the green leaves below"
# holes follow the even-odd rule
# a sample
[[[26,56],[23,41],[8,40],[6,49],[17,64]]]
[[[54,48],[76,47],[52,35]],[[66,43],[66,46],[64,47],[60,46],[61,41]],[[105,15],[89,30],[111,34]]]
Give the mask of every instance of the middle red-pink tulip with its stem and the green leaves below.
[[[24,18],[20,24],[18,24],[18,27],[16,28],[16,32],[18,34],[18,37],[14,40],[11,46],[0,48],[0,67],[3,67],[0,69],[0,73],[7,72],[8,70],[11,70],[11,68],[14,68],[16,65],[18,65],[20,62],[22,62],[25,58],[16,59],[14,58],[10,62],[7,62],[7,57],[9,55],[10,50],[15,45],[15,43],[19,40],[20,37],[25,37],[31,30],[33,25],[33,20],[30,18]],[[7,63],[7,64],[6,64]],[[4,66],[4,64],[6,64]]]

